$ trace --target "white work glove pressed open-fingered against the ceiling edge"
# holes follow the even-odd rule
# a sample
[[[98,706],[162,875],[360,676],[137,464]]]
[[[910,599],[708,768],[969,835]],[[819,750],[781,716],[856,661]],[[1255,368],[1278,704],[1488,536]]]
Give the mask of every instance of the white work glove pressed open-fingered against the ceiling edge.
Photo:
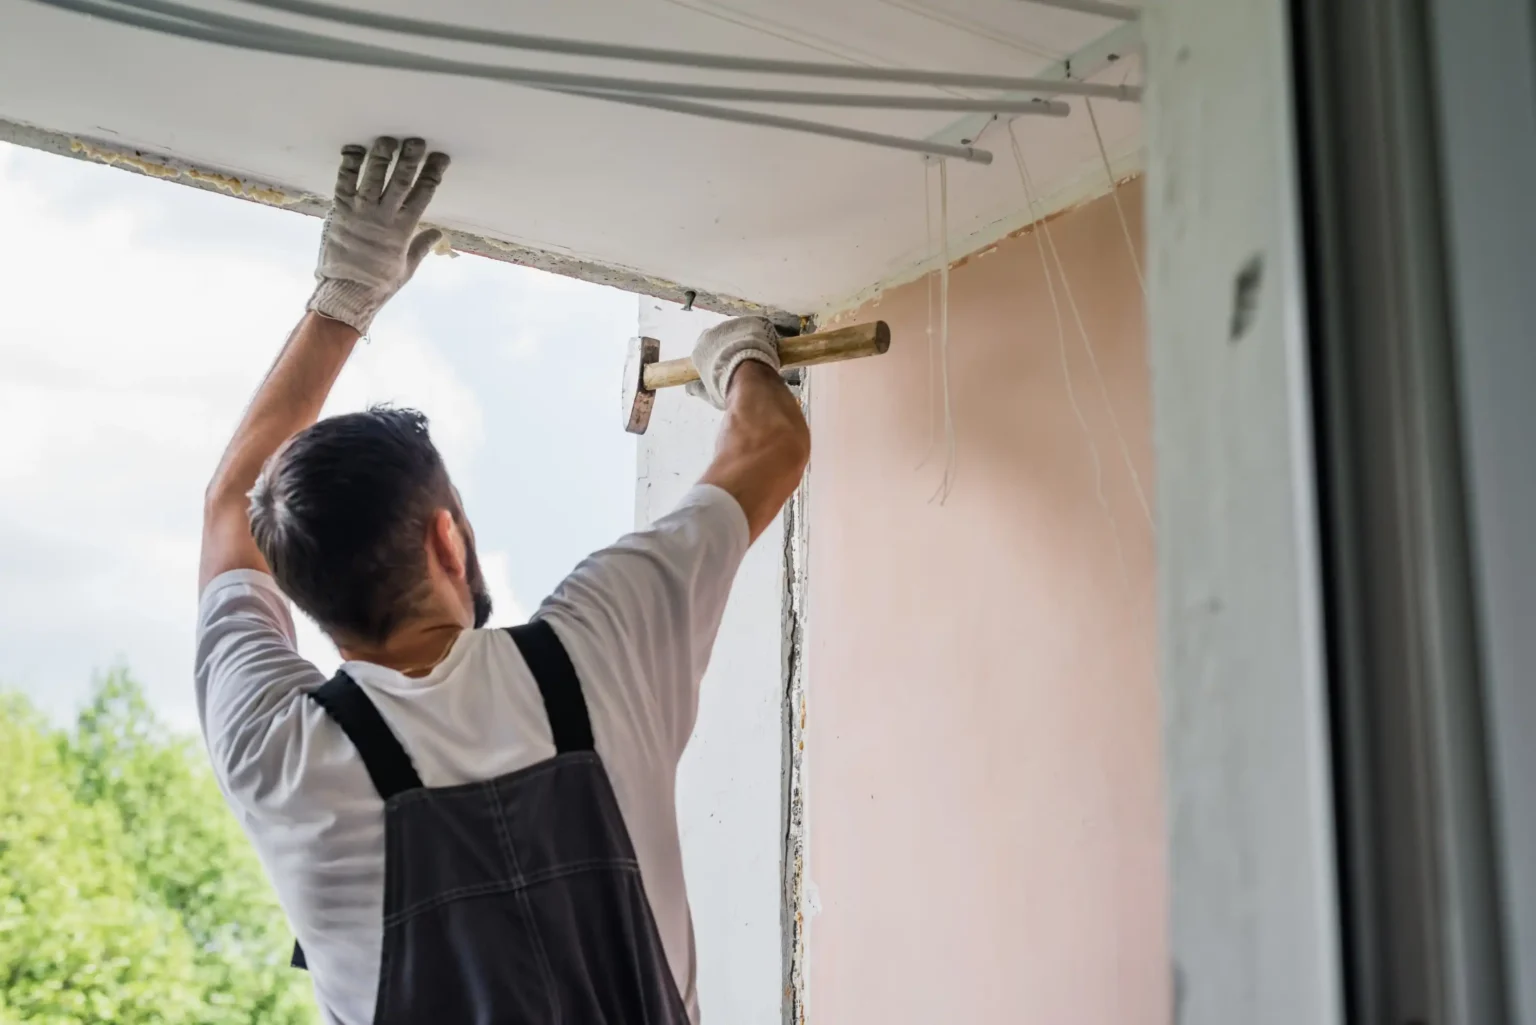
[[[392,177],[396,149],[399,160]],[[447,166],[449,155],[427,155],[427,143],[419,138],[407,138],[401,146],[382,137],[369,151],[356,144],[343,148],[335,203],[319,234],[315,267],[319,284],[309,309],[367,333],[373,315],[442,238],[435,227],[418,234],[416,226]]]

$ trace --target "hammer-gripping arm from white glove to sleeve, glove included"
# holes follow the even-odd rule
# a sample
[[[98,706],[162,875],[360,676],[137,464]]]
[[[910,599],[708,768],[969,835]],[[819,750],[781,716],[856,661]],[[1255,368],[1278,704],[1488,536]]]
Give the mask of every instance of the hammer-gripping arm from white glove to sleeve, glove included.
[[[714,461],[700,483],[736,498],[756,541],[794,493],[811,458],[800,403],[779,376],[777,333],[762,317],[737,317],[703,332],[693,350],[694,395],[725,410]]]

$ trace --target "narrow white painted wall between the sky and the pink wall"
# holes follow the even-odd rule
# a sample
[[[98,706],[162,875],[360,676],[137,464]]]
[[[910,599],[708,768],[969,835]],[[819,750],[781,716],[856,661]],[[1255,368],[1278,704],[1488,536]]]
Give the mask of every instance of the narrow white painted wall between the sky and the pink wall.
[[[639,333],[685,357],[723,320],[639,298]],[[614,416],[617,423],[617,416]],[[634,518],[668,512],[714,452],[720,413],[680,389],[657,393],[639,444]],[[742,564],[703,678],[699,724],[677,771],[684,870],[699,948],[703,1020],[780,1022],[780,765],[783,530],[776,521]]]

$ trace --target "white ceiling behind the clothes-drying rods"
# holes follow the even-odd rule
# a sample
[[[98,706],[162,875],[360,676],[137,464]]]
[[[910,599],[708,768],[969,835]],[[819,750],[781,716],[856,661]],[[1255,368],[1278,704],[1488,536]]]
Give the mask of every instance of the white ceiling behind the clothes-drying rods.
[[[399,49],[525,68],[559,68],[762,88],[926,92],[720,75],[654,65],[495,51],[330,28],[235,0],[186,0],[249,18]],[[339,2],[339,0],[338,0]],[[1061,60],[1134,23],[1026,0],[352,0],[478,28],[791,60],[1060,75]],[[461,247],[700,304],[745,300],[779,312],[839,309],[911,277],[925,252],[917,154],[616,106],[513,85],[253,54],[0,0],[0,137],[112,158],[180,180],[217,171],[276,186],[313,212],[336,151],[375,134],[421,134],[453,155],[429,220]],[[1112,46],[1117,52],[1121,46]],[[1080,60],[1078,68],[1084,66]],[[1121,55],[1094,80],[1140,81]],[[968,91],[969,95],[985,95]],[[1068,118],[1015,121],[1049,206],[1106,191],[1083,101]],[[759,108],[866,131],[960,141],[975,115]],[[1140,111],[1094,103],[1117,174],[1138,169]],[[971,118],[972,131],[963,123]],[[977,143],[991,166],[949,161],[951,252],[1021,226],[1025,201],[1006,129]],[[937,174],[934,174],[937,183]],[[247,189],[249,191],[249,189]],[[304,198],[309,194],[309,198]],[[270,198],[270,197],[269,197]],[[937,200],[934,204],[937,215]],[[502,246],[498,246],[502,243]],[[510,247],[507,246],[510,244]]]

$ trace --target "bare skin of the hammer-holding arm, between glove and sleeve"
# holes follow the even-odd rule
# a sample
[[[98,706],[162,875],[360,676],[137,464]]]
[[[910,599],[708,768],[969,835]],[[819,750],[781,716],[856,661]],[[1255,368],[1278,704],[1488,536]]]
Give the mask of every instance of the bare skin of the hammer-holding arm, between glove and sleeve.
[[[731,376],[725,421],[702,483],[730,492],[757,538],[794,493],[811,458],[800,403],[771,367],[748,361]]]

